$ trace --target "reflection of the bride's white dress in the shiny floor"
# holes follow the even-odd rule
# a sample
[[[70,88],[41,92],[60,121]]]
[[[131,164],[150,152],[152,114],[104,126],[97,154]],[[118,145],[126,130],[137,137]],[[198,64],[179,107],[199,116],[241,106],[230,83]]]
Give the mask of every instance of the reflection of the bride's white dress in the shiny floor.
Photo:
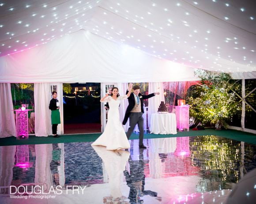
[[[102,158],[105,170],[109,176],[110,197],[104,197],[104,203],[128,203],[124,201],[127,197],[122,196],[120,182],[130,153],[124,150],[106,150],[103,146],[93,146],[93,148],[98,153],[98,156]]]

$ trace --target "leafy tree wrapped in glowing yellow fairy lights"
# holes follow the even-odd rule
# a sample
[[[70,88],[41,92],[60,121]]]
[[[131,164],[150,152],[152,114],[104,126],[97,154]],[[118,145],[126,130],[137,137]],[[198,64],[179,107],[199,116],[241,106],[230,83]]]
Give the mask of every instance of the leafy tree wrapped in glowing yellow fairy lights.
[[[226,126],[232,115],[241,109],[231,91],[237,89],[237,84],[230,82],[231,77],[227,73],[200,70],[196,75],[201,78],[201,86],[194,88],[192,96],[186,98],[190,105],[190,116],[203,125],[211,122]]]

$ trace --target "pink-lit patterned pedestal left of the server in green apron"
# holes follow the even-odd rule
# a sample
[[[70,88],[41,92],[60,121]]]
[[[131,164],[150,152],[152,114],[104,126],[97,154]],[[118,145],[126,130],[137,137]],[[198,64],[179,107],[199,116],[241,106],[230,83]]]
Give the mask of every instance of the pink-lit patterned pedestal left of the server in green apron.
[[[31,109],[16,109],[17,139],[28,139],[28,111]]]

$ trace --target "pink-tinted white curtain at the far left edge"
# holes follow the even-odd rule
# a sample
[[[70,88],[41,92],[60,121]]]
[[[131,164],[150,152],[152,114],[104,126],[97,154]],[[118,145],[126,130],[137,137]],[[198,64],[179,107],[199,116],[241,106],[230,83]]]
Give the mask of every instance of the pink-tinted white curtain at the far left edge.
[[[16,136],[11,84],[0,83],[0,138]]]

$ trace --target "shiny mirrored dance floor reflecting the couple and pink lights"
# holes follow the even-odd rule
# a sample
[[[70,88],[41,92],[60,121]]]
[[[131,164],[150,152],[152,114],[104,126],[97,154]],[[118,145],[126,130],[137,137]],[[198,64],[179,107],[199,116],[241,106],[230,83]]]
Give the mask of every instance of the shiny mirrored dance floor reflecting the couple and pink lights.
[[[213,135],[129,142],[0,146],[0,203],[221,203],[256,168],[256,145]]]

